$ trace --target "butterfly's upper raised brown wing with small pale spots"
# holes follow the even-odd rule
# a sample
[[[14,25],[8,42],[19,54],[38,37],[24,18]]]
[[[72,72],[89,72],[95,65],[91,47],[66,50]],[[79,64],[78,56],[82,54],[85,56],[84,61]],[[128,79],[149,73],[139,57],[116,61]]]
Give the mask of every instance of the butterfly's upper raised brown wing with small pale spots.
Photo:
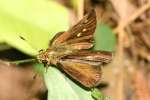
[[[50,41],[50,46],[56,46],[62,43],[90,42],[93,40],[95,28],[96,14],[94,10],[91,10],[68,31],[58,33],[58,35]]]

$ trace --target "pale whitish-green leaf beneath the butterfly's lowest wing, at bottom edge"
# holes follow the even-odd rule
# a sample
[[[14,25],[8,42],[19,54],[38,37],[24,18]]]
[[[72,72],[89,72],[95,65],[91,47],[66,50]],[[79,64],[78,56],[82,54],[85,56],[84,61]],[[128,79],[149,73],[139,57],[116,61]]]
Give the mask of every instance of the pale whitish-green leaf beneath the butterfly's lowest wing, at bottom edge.
[[[48,100],[94,100],[90,91],[79,87],[56,68],[49,67],[44,76]]]

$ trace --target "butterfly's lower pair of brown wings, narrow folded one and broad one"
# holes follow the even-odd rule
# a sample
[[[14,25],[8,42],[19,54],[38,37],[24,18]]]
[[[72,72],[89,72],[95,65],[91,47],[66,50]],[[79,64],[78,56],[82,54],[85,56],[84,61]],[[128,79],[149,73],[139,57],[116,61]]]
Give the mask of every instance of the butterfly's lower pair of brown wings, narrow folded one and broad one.
[[[82,85],[95,87],[101,79],[100,66],[111,59],[112,54],[109,52],[82,50],[60,58],[58,66]]]

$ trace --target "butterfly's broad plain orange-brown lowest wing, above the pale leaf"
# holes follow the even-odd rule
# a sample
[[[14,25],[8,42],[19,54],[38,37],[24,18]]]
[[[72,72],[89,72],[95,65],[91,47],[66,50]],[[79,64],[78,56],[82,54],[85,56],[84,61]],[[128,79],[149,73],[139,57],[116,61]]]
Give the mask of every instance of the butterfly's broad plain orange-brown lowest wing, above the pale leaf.
[[[82,60],[62,59],[58,66],[85,87],[95,87],[100,83],[101,67]]]

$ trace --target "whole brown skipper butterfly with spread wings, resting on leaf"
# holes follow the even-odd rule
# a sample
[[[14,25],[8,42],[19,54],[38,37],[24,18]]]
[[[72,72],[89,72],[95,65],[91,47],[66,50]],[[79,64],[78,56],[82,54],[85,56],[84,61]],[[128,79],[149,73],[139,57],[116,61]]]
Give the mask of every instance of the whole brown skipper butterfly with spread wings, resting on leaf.
[[[57,33],[50,41],[49,48],[41,50],[38,60],[48,65],[56,65],[85,87],[95,87],[100,83],[101,65],[112,60],[112,53],[90,51],[96,28],[94,10],[68,31]]]

